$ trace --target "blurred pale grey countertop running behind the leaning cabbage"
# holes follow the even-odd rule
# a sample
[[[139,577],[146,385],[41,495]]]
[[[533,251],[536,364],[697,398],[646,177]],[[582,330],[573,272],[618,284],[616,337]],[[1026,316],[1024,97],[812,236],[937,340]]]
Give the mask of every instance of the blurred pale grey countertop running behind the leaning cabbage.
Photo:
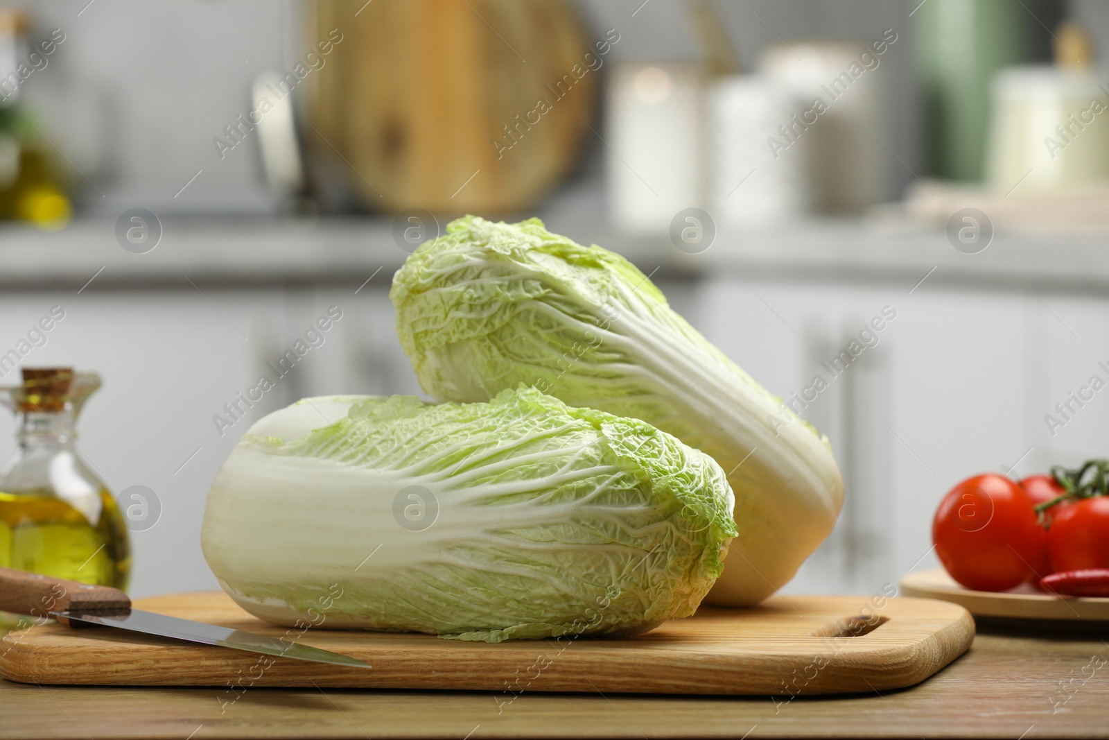
[[[547,225],[620,252],[644,273],[698,277],[721,271],[746,278],[903,281],[994,290],[1109,293],[1109,235],[997,234],[978,254],[956,251],[938,229],[901,221],[815,221],[757,233],[721,233],[701,254],[665,234],[630,236],[597,219],[551,214]],[[113,222],[77,221],[59,232],[0,226],[0,288],[87,290],[187,285],[352,284],[407,256],[391,220],[163,220],[159,245],[132,254]],[[935,270],[933,270],[935,268]],[[725,272],[725,274],[726,274]],[[930,274],[929,274],[930,273]],[[1019,280],[1018,280],[1019,278]],[[1021,281],[1026,285],[1021,285]]]

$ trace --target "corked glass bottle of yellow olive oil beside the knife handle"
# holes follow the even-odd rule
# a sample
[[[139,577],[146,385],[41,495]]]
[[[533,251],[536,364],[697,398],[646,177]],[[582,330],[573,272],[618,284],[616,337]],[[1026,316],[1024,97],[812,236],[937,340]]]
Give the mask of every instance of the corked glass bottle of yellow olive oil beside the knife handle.
[[[73,443],[77,415],[99,387],[91,373],[24,367],[23,385],[4,389],[19,449],[0,473],[0,566],[126,588],[123,517]]]

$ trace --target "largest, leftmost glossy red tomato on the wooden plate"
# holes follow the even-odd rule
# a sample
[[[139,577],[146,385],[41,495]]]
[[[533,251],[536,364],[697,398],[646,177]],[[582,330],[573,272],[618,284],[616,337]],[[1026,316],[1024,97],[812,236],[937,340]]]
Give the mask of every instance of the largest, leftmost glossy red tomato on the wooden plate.
[[[1004,591],[1046,576],[1046,539],[1028,494],[1000,475],[978,475],[952,488],[932,523],[944,568],[966,588],[981,591]]]

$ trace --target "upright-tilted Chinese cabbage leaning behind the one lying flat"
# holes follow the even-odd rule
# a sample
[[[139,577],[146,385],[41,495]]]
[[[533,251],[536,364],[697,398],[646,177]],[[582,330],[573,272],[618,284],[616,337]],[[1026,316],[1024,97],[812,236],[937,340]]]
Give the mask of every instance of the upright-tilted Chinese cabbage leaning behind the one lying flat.
[[[487,401],[523,383],[643,419],[715,458],[740,534],[710,602],[762,600],[832,531],[843,480],[827,439],[623,257],[538,219],[466,216],[408,257],[390,296],[400,343],[439,401]]]

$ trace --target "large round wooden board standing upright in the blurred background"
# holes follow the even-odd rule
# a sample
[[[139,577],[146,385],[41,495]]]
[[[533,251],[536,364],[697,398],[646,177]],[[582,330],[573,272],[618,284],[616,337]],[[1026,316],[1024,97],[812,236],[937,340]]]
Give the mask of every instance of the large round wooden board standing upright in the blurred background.
[[[314,7],[319,38],[343,41],[313,75],[305,141],[364,206],[517,212],[576,165],[611,44],[566,0]]]

